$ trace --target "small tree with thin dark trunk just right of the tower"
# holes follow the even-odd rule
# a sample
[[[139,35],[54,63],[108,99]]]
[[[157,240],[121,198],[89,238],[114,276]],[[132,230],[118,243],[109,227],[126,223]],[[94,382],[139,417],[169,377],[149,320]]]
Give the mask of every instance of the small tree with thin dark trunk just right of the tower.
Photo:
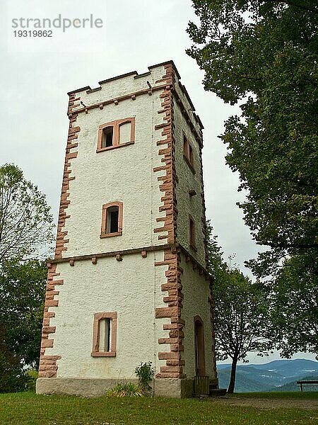
[[[266,339],[270,325],[266,291],[252,283],[237,268],[230,270],[223,261],[216,237],[208,242],[209,269],[215,278],[214,327],[218,360],[232,359],[228,392],[234,392],[237,361],[246,361],[248,351],[266,355],[271,342]]]

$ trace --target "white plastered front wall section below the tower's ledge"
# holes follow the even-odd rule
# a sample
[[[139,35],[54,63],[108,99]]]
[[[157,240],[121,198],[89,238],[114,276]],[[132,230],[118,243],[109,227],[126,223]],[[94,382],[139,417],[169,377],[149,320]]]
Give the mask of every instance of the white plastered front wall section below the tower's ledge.
[[[46,356],[61,356],[57,361],[57,378],[131,378],[141,361],[152,361],[156,372],[165,361],[158,361],[159,338],[166,319],[154,319],[155,308],[165,307],[160,285],[165,282],[167,266],[155,267],[163,261],[163,252],[76,261],[74,266],[60,263],[57,272],[64,285],[59,286],[59,306],[50,326],[53,348]],[[117,353],[115,357],[92,357],[93,317],[97,312],[117,312]]]

